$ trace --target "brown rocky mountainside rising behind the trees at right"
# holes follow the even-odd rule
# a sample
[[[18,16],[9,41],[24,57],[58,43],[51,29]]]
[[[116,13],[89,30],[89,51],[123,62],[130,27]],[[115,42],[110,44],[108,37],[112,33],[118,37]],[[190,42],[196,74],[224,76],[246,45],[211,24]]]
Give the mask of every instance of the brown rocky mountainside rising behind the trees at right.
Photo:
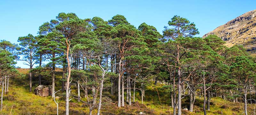
[[[249,53],[256,54],[256,10],[244,13],[205,34],[215,34],[226,41],[227,47],[244,45]]]

